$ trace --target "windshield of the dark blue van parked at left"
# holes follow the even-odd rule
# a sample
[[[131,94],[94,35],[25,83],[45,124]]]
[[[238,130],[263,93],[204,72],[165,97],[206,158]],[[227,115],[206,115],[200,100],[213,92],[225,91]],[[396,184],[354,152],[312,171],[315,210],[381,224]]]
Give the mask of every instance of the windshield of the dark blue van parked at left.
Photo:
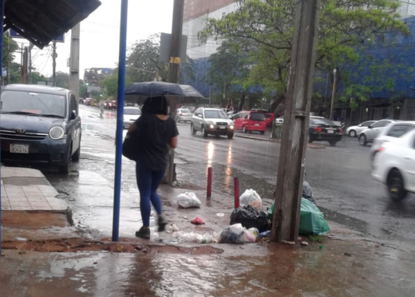
[[[65,96],[27,91],[1,92],[2,114],[34,114],[60,116],[66,114]]]

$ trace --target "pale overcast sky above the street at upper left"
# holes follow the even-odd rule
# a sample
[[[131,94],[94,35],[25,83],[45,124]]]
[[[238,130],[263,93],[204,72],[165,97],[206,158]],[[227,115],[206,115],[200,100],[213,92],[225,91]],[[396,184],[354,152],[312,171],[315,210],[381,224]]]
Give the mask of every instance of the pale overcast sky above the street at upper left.
[[[80,78],[84,69],[115,67],[120,42],[120,0],[100,0],[101,6],[81,23]],[[174,0],[129,0],[127,47],[156,33],[171,33]],[[22,39],[15,39],[19,44]],[[68,73],[66,60],[70,55],[71,30],[65,42],[57,44],[57,71]],[[45,76],[52,75],[51,46],[32,50],[33,66]],[[16,55],[16,62],[20,62]]]

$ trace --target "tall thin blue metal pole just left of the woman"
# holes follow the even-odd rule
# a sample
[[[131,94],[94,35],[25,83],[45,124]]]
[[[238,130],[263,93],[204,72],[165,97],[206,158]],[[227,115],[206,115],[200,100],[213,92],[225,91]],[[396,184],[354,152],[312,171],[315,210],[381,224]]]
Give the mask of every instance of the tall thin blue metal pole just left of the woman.
[[[120,228],[120,195],[122,165],[122,118],[124,115],[125,52],[127,51],[128,0],[121,0],[120,58],[118,60],[118,102],[116,132],[116,176],[114,179],[113,242],[118,242]]]

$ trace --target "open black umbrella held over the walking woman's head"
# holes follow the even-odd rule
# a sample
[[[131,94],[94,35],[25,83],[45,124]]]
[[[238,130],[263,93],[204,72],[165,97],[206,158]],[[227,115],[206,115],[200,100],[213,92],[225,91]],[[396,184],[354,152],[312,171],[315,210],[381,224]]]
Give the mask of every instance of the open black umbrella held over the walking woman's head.
[[[204,98],[194,87],[169,82],[134,82],[125,89],[125,100],[141,105],[149,97],[165,96],[172,104],[192,103]]]

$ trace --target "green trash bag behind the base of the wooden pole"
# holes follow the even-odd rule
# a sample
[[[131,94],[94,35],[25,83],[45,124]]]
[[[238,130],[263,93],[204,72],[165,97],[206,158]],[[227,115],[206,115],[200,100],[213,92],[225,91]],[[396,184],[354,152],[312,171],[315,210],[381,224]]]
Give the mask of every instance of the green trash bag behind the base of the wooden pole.
[[[268,217],[273,219],[274,204],[268,208]],[[299,212],[299,231],[301,235],[324,235],[329,232],[329,225],[320,210],[305,198],[301,199]]]

